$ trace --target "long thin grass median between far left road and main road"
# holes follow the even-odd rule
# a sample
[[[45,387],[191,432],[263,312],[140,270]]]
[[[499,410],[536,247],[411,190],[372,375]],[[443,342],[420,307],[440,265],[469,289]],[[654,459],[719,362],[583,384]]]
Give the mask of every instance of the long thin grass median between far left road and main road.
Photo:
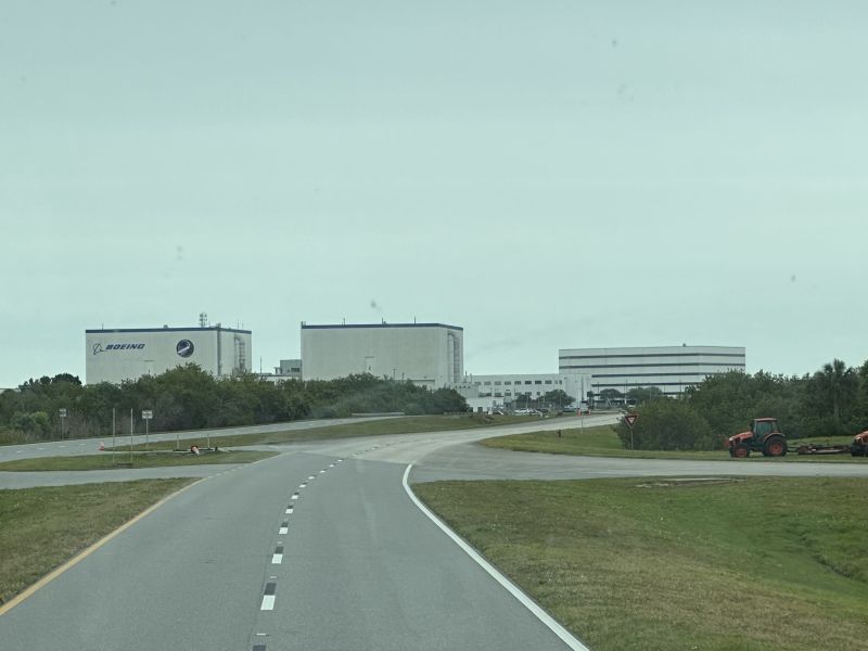
[[[324,425],[307,430],[282,430],[280,432],[261,432],[256,434],[229,434],[225,436],[212,434],[210,442],[224,447],[241,447],[246,445],[279,445],[283,443],[299,443],[305,441],[321,441],[324,438],[350,438],[354,436],[375,436],[382,434],[414,434],[422,432],[441,432],[451,430],[471,430],[492,425],[509,425],[526,423],[527,417],[521,416],[410,416],[383,420],[361,421],[342,425]],[[207,437],[203,434],[195,438],[184,438],[181,444],[189,449],[191,445],[205,447]],[[150,449],[173,449],[175,439],[151,442]],[[133,449],[143,449],[143,445],[133,446]],[[118,450],[129,449],[123,445]]]

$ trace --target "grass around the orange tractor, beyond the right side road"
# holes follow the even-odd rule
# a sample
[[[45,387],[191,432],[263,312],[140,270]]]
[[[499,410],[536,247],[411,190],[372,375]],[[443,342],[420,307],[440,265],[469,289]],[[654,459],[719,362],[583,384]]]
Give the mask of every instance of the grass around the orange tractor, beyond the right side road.
[[[551,455],[585,455],[588,457],[627,457],[631,459],[690,459],[694,461],[731,461],[743,463],[745,461],[775,461],[787,463],[797,462],[863,462],[864,457],[850,455],[796,455],[795,448],[808,439],[790,441],[791,451],[786,457],[763,457],[760,452],[751,452],[745,459],[732,459],[722,446],[719,450],[680,451],[680,450],[629,450],[624,449],[615,431],[609,425],[585,427],[585,430],[563,430],[561,437],[557,432],[529,432],[527,434],[510,434],[486,438],[483,445],[493,448],[505,448],[520,452],[548,452]],[[824,437],[812,439],[817,445],[850,444],[852,436]]]

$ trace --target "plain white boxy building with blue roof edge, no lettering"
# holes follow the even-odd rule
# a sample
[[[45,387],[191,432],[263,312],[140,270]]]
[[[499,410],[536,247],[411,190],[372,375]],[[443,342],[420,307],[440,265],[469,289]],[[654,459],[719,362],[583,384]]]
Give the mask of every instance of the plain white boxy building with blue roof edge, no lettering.
[[[464,331],[443,323],[302,323],[302,374],[334,380],[355,373],[409,380],[430,388],[464,373]]]

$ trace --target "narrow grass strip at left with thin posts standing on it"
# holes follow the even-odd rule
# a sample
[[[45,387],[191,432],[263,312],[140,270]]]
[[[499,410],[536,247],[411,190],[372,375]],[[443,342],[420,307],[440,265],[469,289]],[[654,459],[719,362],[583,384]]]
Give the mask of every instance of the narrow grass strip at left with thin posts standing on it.
[[[153,446],[152,446],[153,447]],[[112,470],[123,468],[163,468],[167,465],[203,465],[207,463],[251,463],[273,457],[277,452],[229,450],[191,455],[189,452],[133,452],[130,465],[129,450],[118,450],[112,460],[111,452],[80,457],[36,457],[0,463],[0,472],[34,472],[61,470]]]

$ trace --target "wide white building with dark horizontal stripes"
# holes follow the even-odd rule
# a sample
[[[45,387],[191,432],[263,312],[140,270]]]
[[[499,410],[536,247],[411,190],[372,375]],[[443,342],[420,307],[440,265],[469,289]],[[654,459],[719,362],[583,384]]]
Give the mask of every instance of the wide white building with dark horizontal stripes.
[[[656,386],[676,396],[709,375],[743,371],[745,350],[739,346],[651,346],[628,348],[562,348],[561,373],[588,373],[595,394],[613,388],[626,394]]]

